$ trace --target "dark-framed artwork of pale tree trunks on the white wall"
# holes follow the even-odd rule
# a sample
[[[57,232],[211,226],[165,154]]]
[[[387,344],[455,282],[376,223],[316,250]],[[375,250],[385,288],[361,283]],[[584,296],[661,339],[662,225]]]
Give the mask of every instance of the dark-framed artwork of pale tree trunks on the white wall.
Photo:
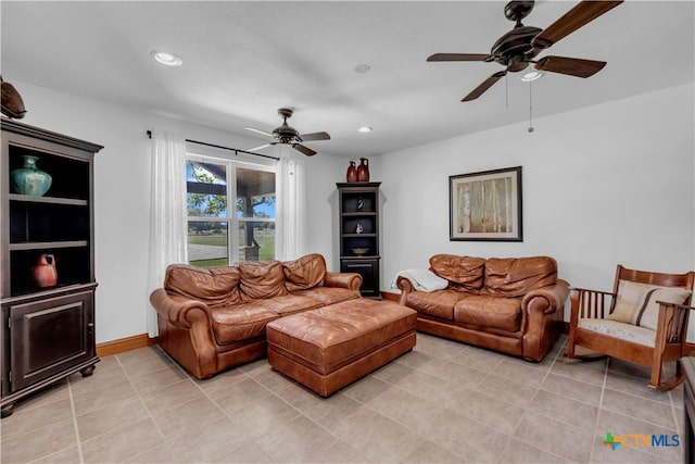
[[[523,241],[521,166],[448,177],[450,240]]]

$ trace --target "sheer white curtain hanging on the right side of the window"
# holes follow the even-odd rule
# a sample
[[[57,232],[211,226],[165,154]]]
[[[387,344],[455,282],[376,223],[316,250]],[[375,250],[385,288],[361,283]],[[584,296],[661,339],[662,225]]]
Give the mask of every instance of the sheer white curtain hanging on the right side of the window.
[[[304,160],[281,154],[275,172],[275,259],[295,260],[306,253]]]

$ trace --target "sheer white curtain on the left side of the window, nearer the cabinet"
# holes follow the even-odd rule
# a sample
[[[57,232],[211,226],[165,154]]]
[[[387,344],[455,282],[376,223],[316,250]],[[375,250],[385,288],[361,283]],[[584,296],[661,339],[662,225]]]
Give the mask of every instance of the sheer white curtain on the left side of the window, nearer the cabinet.
[[[153,338],[159,333],[150,293],[162,287],[167,265],[188,263],[186,140],[175,134],[153,133],[151,152],[147,326]]]

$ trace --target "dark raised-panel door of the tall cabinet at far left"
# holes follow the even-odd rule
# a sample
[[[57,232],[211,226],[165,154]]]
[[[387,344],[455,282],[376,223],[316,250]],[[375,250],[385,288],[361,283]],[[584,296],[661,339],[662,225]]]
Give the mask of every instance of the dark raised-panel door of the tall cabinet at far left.
[[[92,291],[10,306],[10,318],[11,391],[94,355]]]

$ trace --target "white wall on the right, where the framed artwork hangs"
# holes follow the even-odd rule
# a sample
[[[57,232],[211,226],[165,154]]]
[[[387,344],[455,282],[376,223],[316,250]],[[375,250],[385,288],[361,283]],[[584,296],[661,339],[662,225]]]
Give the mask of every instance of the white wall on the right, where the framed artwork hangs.
[[[547,254],[577,287],[616,264],[695,268],[693,85],[380,156],[382,289],[434,253]],[[448,240],[448,176],[522,166],[523,242]]]

